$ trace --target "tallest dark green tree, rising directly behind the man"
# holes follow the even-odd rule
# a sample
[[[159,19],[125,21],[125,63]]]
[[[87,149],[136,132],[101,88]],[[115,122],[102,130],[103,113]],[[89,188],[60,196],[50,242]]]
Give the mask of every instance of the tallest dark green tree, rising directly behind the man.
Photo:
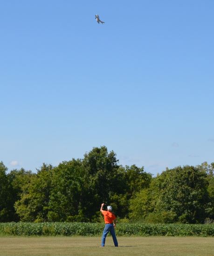
[[[96,221],[102,202],[110,203],[110,194],[117,190],[117,158],[105,146],[94,147],[83,158],[83,215]]]

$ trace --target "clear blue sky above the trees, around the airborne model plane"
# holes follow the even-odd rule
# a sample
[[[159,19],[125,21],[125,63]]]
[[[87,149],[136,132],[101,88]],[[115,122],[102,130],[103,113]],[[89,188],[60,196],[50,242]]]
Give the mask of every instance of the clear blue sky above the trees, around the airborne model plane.
[[[35,172],[104,145],[154,175],[213,162],[213,13],[213,0],[1,0],[0,161]]]

